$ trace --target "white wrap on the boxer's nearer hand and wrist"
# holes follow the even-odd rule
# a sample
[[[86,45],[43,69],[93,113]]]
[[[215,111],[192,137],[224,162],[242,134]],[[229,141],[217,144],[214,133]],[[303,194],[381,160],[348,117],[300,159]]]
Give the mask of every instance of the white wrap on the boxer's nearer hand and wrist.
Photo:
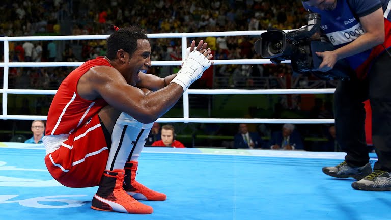
[[[202,73],[210,67],[212,63],[199,51],[192,51],[189,57],[182,65],[182,69],[171,81],[182,86],[183,91],[197,79],[201,78]]]

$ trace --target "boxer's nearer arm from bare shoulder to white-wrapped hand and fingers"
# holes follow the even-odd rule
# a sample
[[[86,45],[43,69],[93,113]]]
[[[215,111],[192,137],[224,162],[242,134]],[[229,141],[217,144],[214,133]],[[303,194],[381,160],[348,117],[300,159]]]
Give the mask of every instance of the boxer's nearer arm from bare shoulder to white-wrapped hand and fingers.
[[[195,45],[195,41],[193,44]],[[191,59],[183,65],[184,72],[156,92],[146,95],[144,90],[129,85],[117,69],[96,66],[88,70],[77,82],[78,95],[87,100],[103,98],[110,106],[131,115],[138,122],[152,123],[169,111],[182,96],[186,89],[184,87],[188,87],[201,77],[205,69],[211,65],[208,60],[210,51],[206,51],[206,45],[201,40],[197,51],[190,53]],[[174,83],[175,80],[178,82]]]

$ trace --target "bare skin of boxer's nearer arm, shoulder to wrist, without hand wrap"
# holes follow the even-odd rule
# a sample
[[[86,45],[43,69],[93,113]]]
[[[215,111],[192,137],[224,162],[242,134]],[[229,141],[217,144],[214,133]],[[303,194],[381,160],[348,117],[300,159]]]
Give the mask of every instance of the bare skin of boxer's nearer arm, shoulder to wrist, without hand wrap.
[[[79,81],[77,86],[83,98],[101,97],[110,106],[144,124],[160,118],[183,94],[183,88],[178,84],[170,84],[156,92],[148,93],[148,90],[129,85],[116,69],[107,66],[93,67],[86,74],[89,76],[86,78],[87,83],[80,85]],[[84,90],[87,92],[83,93]],[[85,93],[94,93],[92,95],[95,97],[89,97]]]

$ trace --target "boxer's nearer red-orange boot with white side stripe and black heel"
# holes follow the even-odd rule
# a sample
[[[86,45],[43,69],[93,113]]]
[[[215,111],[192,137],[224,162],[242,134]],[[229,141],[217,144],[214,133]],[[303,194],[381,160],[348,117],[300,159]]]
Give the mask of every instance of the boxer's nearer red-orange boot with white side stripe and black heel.
[[[151,214],[153,212],[151,206],[138,202],[124,191],[124,173],[122,169],[103,172],[91,208],[100,211]]]

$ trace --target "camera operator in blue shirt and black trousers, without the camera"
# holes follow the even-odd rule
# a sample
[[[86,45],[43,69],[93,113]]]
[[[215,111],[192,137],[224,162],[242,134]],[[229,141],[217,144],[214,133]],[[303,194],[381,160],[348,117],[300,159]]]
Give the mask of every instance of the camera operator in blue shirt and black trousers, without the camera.
[[[354,70],[334,94],[337,141],[345,161],[323,172],[353,177],[354,189],[391,190],[391,3],[389,0],[306,0],[305,9],[321,15],[321,28],[335,50],[317,52],[318,70],[331,70],[345,59]],[[388,51],[387,49],[388,48]],[[378,161],[372,172],[366,145],[362,103],[371,100],[372,137]]]

